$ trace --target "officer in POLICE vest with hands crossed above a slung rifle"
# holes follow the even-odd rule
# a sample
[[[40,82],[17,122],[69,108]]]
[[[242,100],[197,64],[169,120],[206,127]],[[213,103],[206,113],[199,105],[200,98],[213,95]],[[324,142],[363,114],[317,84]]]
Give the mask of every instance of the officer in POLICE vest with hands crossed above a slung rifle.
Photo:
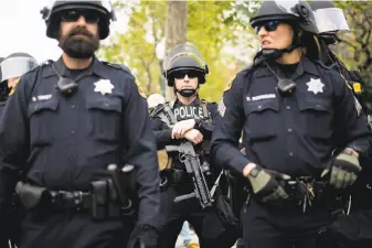
[[[199,154],[199,165],[206,164],[208,170],[203,175],[209,183],[214,182],[216,177],[215,171],[209,164],[209,140],[214,129],[212,121],[217,116],[217,106],[215,103],[200,99],[198,95],[208,73],[208,66],[195,46],[183,44],[173,47],[164,60],[164,76],[168,86],[174,89],[176,101],[158,106],[152,115],[158,149],[161,150],[171,144],[178,145],[184,141],[192,142]],[[167,111],[168,108],[170,110]],[[173,122],[171,116],[176,119]],[[185,220],[194,227],[200,247],[231,247],[235,240],[228,241],[228,236],[222,235],[224,227],[213,207],[203,209],[195,197],[174,203],[178,196],[193,192],[194,186],[191,175],[182,163],[182,157],[188,158],[188,154],[169,152],[169,163],[160,168],[162,228],[159,248],[176,246],[177,237]],[[210,192],[211,184],[208,186]]]

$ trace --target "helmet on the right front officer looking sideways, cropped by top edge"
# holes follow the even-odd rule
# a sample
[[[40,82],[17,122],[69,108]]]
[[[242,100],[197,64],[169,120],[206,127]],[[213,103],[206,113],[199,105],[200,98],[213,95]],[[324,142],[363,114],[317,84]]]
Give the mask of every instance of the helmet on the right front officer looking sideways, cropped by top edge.
[[[302,31],[318,33],[311,8],[302,0],[264,0],[252,18],[251,25],[255,28],[262,22],[274,20],[298,24]]]

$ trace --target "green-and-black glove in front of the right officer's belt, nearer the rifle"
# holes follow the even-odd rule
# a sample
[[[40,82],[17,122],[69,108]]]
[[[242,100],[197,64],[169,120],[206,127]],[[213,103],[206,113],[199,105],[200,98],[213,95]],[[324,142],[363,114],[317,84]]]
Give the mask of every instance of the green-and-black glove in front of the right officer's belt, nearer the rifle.
[[[281,180],[289,180],[289,175],[265,170],[256,165],[251,170],[247,179],[251,182],[253,193],[263,203],[278,203],[289,197],[278,183]]]

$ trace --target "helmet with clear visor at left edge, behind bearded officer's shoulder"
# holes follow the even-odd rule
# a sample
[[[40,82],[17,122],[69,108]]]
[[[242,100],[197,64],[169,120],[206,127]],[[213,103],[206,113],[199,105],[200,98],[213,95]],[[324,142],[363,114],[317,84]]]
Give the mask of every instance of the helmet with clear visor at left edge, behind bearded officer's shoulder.
[[[12,77],[20,77],[38,67],[38,62],[28,53],[12,53],[1,62],[0,67],[2,83]]]

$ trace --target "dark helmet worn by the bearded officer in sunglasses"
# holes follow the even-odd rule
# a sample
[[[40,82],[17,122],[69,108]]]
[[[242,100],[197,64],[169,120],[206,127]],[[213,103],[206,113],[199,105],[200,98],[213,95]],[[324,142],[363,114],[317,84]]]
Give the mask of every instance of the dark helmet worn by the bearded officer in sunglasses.
[[[98,22],[99,39],[104,40],[109,34],[109,22],[115,21],[115,12],[110,2],[94,1],[94,0],[55,0],[52,8],[44,8],[41,10],[41,14],[46,23],[46,36],[56,39],[60,29],[59,14],[64,10],[94,10],[100,14]]]

